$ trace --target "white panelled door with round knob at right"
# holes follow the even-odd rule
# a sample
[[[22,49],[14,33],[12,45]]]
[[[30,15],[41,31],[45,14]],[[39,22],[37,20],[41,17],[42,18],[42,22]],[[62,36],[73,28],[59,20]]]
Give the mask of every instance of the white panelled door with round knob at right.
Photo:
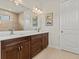
[[[79,54],[79,8],[78,0],[60,5],[60,47]]]

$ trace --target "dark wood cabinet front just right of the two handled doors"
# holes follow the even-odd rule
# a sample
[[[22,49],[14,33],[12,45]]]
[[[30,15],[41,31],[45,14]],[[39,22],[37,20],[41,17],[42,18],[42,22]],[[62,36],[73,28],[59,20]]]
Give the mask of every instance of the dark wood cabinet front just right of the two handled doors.
[[[42,50],[42,35],[31,36],[31,56],[34,57]]]

